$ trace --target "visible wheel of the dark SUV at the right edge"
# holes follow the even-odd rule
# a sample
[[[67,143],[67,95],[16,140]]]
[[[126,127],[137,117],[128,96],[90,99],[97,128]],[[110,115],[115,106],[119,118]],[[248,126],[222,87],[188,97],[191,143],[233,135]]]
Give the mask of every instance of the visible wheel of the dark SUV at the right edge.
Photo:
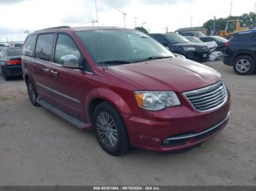
[[[233,66],[236,74],[249,75],[255,71],[255,61],[249,55],[242,55],[236,58]]]

